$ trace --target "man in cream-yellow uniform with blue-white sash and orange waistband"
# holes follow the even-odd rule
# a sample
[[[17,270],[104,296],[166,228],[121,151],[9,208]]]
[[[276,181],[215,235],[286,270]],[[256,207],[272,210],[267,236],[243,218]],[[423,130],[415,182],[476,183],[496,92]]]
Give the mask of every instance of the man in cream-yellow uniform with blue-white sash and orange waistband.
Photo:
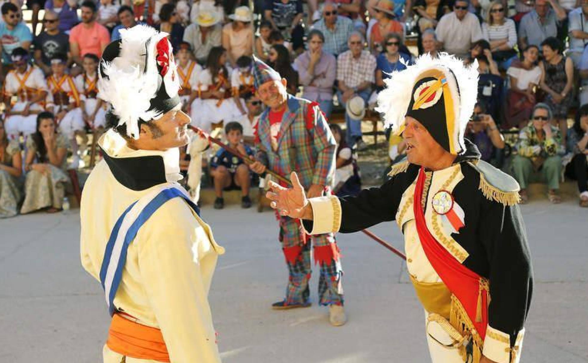
[[[99,95],[112,125],[81,205],[82,265],[112,322],[105,363],[220,362],[208,291],[223,248],[179,186],[189,140],[166,33],[137,25],[103,52]]]

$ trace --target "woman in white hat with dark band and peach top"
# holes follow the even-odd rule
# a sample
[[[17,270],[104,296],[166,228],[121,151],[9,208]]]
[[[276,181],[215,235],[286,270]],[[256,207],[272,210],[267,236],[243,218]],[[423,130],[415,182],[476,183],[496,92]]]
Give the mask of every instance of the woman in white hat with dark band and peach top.
[[[247,6],[239,6],[234,14],[229,15],[229,19],[232,22],[222,28],[222,46],[226,49],[230,65],[235,68],[240,56],[253,55],[251,10]]]

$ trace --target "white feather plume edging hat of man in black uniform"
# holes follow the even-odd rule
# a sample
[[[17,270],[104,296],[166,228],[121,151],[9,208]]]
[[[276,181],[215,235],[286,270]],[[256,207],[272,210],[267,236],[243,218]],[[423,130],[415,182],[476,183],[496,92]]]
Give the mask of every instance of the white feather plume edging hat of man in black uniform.
[[[439,53],[434,58],[425,53],[416,59],[414,65],[405,70],[392,72],[390,78],[386,79],[386,88],[377,96],[376,111],[383,113],[386,125],[392,125],[393,132],[400,130],[405,124],[406,109],[412,98],[412,89],[417,77],[427,69],[438,68],[446,70],[449,68],[457,80],[459,87],[459,109],[456,109],[455,119],[459,129],[458,142],[463,149],[463,134],[467,122],[472,116],[477,100],[478,65],[477,61],[472,65],[465,66],[463,61],[447,53]],[[451,78],[451,77],[450,77]],[[452,83],[452,80],[448,80]],[[457,95],[454,95],[457,97]]]

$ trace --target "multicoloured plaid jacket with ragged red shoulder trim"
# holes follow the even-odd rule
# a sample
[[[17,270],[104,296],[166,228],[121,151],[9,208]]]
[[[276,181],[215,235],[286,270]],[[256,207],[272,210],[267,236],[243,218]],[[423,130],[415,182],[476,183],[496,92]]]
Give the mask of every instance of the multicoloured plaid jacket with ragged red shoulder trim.
[[[335,175],[337,144],[317,103],[288,95],[288,109],[282,117],[278,150],[272,150],[269,109],[259,117],[256,146],[263,150],[260,159],[285,176],[296,171],[305,189],[312,184],[331,186]]]

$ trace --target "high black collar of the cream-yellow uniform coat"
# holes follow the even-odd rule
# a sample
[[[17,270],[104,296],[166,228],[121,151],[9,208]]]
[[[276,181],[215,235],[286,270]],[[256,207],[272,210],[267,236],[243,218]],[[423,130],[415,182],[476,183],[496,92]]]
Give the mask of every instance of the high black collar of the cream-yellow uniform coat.
[[[162,156],[111,157],[100,149],[116,181],[128,189],[145,190],[167,181]]]

